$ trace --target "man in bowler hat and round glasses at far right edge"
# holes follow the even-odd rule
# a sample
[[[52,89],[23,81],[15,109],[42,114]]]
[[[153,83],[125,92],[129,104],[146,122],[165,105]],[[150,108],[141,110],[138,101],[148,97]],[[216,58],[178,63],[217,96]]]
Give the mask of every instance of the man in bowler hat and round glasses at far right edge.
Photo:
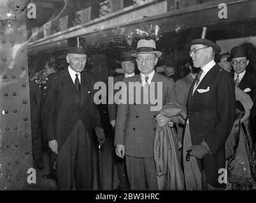
[[[250,111],[250,126],[252,128],[253,141],[255,143],[256,126],[256,77],[246,71],[249,64],[245,46],[236,46],[231,49],[231,65],[234,70],[234,82],[236,87],[245,91],[253,101]]]

